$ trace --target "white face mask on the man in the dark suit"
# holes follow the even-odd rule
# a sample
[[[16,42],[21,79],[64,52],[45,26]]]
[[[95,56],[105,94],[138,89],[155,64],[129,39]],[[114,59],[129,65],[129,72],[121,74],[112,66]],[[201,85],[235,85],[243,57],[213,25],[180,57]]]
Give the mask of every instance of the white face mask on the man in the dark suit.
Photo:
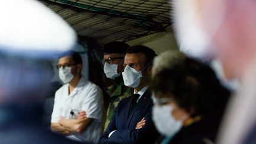
[[[124,72],[122,73],[124,85],[127,87],[136,88],[140,84],[140,78],[142,78],[142,72],[136,71],[136,69],[126,66]]]

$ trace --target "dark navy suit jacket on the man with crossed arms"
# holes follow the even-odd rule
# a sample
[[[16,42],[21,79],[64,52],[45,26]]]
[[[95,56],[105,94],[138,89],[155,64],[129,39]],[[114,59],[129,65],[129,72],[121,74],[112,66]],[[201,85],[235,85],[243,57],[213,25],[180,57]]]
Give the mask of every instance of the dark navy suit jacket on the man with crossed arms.
[[[133,96],[133,95],[132,95]],[[116,107],[100,143],[153,143],[158,136],[152,115],[151,92],[146,91],[129,113],[132,96],[124,98]],[[145,117],[146,124],[142,129],[135,129],[137,123]],[[116,130],[109,138],[108,134]]]

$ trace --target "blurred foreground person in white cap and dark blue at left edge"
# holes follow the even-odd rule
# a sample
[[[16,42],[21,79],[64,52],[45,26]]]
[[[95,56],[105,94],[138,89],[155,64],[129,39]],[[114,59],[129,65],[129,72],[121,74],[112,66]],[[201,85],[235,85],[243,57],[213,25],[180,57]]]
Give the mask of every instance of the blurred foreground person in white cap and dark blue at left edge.
[[[75,32],[37,1],[4,1],[0,17],[0,143],[73,143],[40,127],[40,107],[46,59],[71,49]]]

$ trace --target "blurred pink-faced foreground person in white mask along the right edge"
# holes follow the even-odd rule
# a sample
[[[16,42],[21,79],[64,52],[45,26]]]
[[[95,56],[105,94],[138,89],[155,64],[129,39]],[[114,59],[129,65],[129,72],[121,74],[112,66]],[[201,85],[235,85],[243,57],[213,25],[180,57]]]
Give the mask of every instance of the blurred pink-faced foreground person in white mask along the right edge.
[[[181,50],[200,59],[217,59],[222,69],[223,76],[220,78],[223,83],[233,85],[237,91],[226,111],[218,143],[254,143],[255,1],[177,0],[173,4],[177,22],[175,30]],[[239,88],[230,82],[239,83]]]

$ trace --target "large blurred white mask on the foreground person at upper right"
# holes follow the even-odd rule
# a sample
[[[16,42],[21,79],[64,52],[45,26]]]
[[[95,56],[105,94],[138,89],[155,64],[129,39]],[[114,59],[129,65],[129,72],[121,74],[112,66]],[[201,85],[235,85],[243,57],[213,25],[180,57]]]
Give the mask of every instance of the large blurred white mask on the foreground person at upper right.
[[[204,4],[203,4],[204,3]],[[208,11],[211,5],[219,5],[214,14]],[[221,3],[217,1],[200,0],[174,0],[174,30],[177,34],[177,41],[180,50],[185,54],[199,59],[208,58],[212,55],[212,37],[223,21]],[[207,17],[205,17],[207,15]],[[202,18],[207,18],[210,24],[208,31],[204,27]],[[212,19],[211,19],[212,18]]]

